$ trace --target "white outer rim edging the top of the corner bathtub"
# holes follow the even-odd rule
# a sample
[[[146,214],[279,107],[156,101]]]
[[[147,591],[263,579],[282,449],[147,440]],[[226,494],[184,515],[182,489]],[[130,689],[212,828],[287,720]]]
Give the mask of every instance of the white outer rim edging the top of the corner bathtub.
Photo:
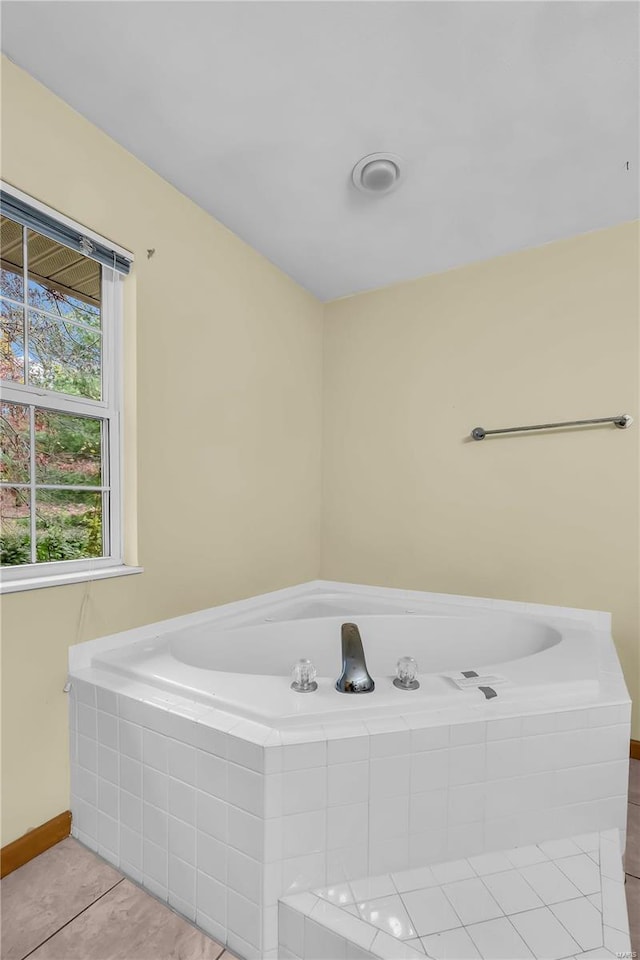
[[[430,712],[407,710],[400,716],[389,714],[378,717],[340,717],[331,722],[326,718],[297,719],[294,723],[266,722],[263,718],[247,717],[237,712],[230,712],[223,708],[211,707],[202,703],[194,703],[187,697],[177,693],[168,694],[157,687],[145,685],[143,682],[122,682],[122,677],[111,674],[106,670],[92,665],[92,658],[98,651],[114,650],[132,642],[152,639],[168,630],[180,629],[184,626],[194,626],[203,622],[227,622],[234,617],[249,611],[259,610],[265,604],[275,604],[286,600],[313,597],[327,592],[344,594],[358,594],[363,597],[388,597],[401,601],[418,601],[429,603],[455,603],[462,607],[475,607],[487,612],[497,610],[525,614],[544,619],[547,624],[564,625],[566,629],[581,626],[589,628],[594,636],[597,652],[597,693],[588,696],[584,702],[563,703],[562,698],[545,697],[537,704],[522,703],[519,700],[493,701],[490,712],[486,701],[460,701],[450,707]],[[245,739],[259,747],[276,747],[288,743],[308,743],[333,738],[351,738],[367,736],[379,732],[396,732],[398,730],[421,729],[437,725],[453,725],[470,723],[480,720],[490,722],[493,719],[509,717],[534,716],[536,714],[553,712],[568,712],[572,710],[590,709],[603,705],[627,705],[630,697],[627,691],[620,662],[615,650],[610,632],[611,616],[602,611],[579,610],[566,607],[553,607],[546,604],[523,603],[519,601],[503,601],[477,597],[458,597],[452,594],[433,594],[422,591],[398,590],[396,588],[381,588],[345,584],[335,581],[310,581],[284,590],[273,591],[251,597],[247,600],[235,601],[218,607],[186,614],[154,624],[148,624],[133,630],[112,634],[96,640],[87,641],[69,650],[70,678],[84,681],[97,687],[102,687],[118,694],[129,704],[138,704],[141,716],[145,719],[140,722],[164,729],[176,717],[195,724],[199,729],[193,732],[195,740],[202,742],[202,749],[206,747],[206,730],[211,735],[214,731],[226,734],[233,731],[234,737]],[[166,719],[163,719],[163,715]]]

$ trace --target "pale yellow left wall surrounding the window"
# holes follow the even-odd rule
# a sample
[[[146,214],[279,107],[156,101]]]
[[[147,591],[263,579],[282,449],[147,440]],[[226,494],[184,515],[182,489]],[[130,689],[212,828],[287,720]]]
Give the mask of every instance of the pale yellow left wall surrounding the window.
[[[318,575],[322,306],[6,60],[1,159],[6,181],[136,256],[145,569],[4,598],[7,843],[69,805],[69,644]]]

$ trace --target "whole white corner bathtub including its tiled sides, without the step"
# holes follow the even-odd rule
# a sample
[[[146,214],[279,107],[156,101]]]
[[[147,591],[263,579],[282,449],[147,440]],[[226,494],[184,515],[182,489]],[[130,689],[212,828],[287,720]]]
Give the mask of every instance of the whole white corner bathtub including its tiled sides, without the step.
[[[376,689],[340,694],[342,623]],[[392,684],[400,656],[420,688]],[[291,664],[318,689],[290,688]],[[316,582],[71,647],[74,836],[244,960],[280,897],[624,832],[606,613]],[[449,673],[500,674],[497,696]]]

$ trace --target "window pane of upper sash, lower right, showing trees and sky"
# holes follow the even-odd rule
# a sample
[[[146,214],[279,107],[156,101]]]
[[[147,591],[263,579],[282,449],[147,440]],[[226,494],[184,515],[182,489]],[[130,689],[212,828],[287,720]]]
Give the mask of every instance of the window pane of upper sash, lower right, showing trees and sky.
[[[86,327],[29,311],[29,381],[99,400],[101,337]]]

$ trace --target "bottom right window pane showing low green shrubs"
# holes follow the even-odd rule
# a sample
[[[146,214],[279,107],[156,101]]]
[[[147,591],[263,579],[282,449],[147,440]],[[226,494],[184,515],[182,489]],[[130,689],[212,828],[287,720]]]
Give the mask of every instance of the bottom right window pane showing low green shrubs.
[[[36,490],[38,563],[103,554],[101,493]]]

